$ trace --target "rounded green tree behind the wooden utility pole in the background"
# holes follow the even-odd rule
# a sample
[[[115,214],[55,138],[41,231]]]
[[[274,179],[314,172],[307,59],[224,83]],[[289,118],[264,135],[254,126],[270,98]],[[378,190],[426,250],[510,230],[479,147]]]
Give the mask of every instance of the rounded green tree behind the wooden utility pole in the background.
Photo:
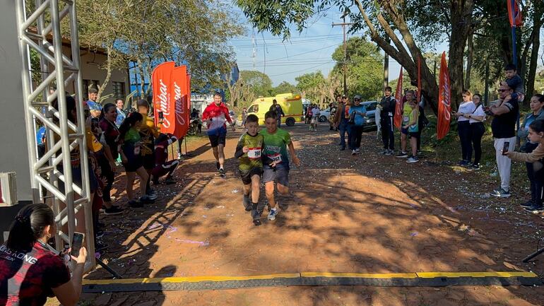
[[[348,78],[348,95],[362,95],[364,100],[376,98],[382,93],[384,78],[384,57],[376,45],[364,37],[351,37],[346,44],[344,61],[343,46],[334,50],[332,58],[336,61],[333,73],[343,75],[345,63]]]

